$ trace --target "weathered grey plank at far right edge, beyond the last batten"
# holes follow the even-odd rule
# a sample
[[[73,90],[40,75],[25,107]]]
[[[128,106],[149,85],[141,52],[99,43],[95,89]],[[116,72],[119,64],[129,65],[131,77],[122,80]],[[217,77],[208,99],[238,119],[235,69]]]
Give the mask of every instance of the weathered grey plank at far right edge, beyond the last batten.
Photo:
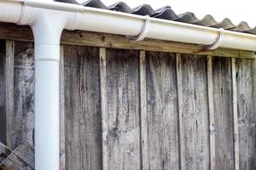
[[[240,169],[256,169],[256,60],[236,59]]]

